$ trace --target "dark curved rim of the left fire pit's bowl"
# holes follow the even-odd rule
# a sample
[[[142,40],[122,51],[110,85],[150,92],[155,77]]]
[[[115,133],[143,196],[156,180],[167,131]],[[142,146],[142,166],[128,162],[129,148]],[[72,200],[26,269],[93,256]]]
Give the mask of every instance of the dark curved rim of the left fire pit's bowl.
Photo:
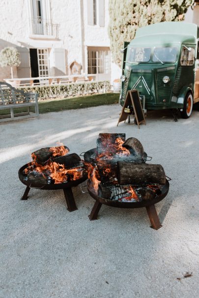
[[[71,182],[66,182],[66,183],[58,183],[58,184],[31,184],[27,180],[25,180],[25,175],[23,174],[23,171],[28,168],[28,164],[22,166],[19,171],[19,179],[20,181],[25,184],[26,186],[29,186],[30,188],[36,188],[36,189],[43,189],[43,190],[53,190],[53,189],[65,189],[65,188],[70,188],[73,186],[77,186],[80,183],[84,182],[87,179],[87,173],[85,172],[85,175],[77,180],[71,181]]]

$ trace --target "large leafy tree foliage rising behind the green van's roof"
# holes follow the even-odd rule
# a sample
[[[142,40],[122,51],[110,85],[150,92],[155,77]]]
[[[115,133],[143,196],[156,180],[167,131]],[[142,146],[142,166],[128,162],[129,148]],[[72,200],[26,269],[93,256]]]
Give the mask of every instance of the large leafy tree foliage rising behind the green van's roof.
[[[194,0],[109,0],[109,36],[113,60],[120,66],[124,41],[131,41],[138,27],[182,21]]]

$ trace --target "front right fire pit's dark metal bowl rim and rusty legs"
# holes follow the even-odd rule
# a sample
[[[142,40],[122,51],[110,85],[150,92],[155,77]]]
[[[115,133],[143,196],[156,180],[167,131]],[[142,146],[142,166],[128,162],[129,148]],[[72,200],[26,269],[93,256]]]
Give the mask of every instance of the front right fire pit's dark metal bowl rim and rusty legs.
[[[156,194],[154,198],[148,199],[148,200],[142,200],[140,202],[121,202],[121,201],[113,201],[110,199],[105,199],[102,198],[101,191],[99,188],[98,194],[94,193],[93,188],[92,188],[92,182],[90,179],[87,181],[87,190],[90,194],[90,196],[95,199],[95,204],[91,210],[91,213],[89,215],[89,219],[91,221],[97,219],[97,215],[99,213],[99,210],[102,206],[102,204],[112,206],[112,207],[117,207],[117,208],[142,208],[146,207],[146,211],[148,213],[148,217],[151,223],[151,227],[158,230],[162,225],[160,224],[155,205],[157,202],[161,201],[164,199],[168,192],[169,192],[169,181],[166,181],[165,185],[160,186],[160,193]]]

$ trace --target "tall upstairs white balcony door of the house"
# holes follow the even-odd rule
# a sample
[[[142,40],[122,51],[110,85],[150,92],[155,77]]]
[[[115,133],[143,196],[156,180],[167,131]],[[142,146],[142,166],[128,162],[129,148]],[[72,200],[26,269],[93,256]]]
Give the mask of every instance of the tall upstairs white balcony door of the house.
[[[33,9],[33,34],[44,34],[44,22],[43,22],[43,11],[42,1],[32,0]]]

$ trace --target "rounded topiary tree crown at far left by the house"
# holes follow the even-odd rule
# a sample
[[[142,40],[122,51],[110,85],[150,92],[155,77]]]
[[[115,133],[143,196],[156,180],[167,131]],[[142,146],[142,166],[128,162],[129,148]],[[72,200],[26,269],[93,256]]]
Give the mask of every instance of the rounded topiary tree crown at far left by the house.
[[[7,47],[0,51],[0,66],[19,66],[20,63],[19,52],[16,48]]]

